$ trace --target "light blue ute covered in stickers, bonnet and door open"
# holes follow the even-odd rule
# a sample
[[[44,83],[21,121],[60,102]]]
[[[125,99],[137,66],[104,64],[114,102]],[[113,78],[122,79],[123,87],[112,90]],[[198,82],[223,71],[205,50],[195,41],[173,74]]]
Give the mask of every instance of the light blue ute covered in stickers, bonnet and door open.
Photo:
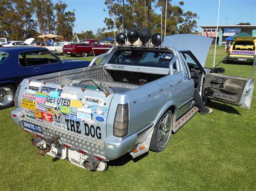
[[[87,68],[25,79],[12,118],[36,136],[38,154],[90,171],[104,171],[125,153],[163,151],[198,111],[194,88],[207,99],[250,108],[253,79],[225,75],[224,68],[205,71],[211,42],[177,34],[162,47],[113,47]]]

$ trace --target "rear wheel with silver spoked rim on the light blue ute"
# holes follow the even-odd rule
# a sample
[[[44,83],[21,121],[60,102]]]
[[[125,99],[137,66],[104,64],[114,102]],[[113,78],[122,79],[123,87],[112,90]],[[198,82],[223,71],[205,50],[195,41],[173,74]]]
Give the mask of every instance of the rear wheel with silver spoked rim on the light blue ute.
[[[154,128],[150,142],[150,150],[154,152],[163,151],[169,143],[172,134],[173,115],[171,111],[165,112]]]

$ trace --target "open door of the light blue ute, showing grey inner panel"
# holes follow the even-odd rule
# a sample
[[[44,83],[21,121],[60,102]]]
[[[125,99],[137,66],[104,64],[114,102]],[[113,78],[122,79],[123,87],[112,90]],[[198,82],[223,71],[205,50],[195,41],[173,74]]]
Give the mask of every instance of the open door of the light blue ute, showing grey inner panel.
[[[224,68],[216,67],[205,75],[203,96],[250,109],[254,88],[255,55],[250,78],[220,74],[225,72]]]

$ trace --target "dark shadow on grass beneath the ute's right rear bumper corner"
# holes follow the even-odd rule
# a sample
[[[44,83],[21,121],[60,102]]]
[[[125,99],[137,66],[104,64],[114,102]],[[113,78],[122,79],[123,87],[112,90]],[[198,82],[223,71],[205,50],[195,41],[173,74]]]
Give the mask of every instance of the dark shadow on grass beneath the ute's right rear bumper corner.
[[[139,155],[138,157],[133,159],[132,156],[129,153],[126,153],[123,156],[119,157],[118,159],[111,160],[111,161],[107,162],[107,164],[109,166],[123,166],[126,163],[130,162],[131,160],[133,162],[137,162],[140,159],[143,159],[144,157],[146,157],[147,155],[149,155],[149,152],[146,152],[146,153],[144,153],[142,155]]]

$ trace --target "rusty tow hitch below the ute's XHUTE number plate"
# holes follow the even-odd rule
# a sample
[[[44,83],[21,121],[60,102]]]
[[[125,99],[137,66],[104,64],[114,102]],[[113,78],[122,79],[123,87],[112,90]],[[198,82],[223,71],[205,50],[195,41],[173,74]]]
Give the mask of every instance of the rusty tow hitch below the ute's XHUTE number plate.
[[[37,147],[38,154],[43,156],[44,154],[51,151],[52,144],[60,144],[59,136],[54,135],[51,137],[51,139],[42,139],[39,137],[34,137],[31,139],[31,144],[35,147]]]

